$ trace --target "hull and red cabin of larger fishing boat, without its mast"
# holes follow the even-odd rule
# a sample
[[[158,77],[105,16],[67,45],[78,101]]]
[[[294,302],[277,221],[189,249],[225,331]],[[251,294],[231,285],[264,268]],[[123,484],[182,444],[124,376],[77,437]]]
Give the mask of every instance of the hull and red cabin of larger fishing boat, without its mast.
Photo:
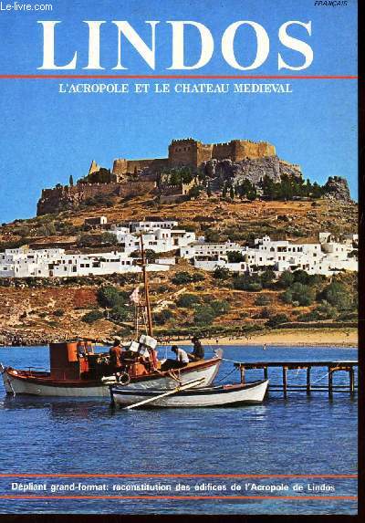
[[[81,342],[84,343],[84,342]],[[104,396],[110,394],[109,385],[118,380],[110,371],[109,353],[91,350],[79,355],[80,341],[51,343],[50,371],[33,369],[18,370],[0,363],[5,391],[9,394],[33,394],[37,396]],[[219,351],[209,360],[191,361],[176,369],[175,361],[162,361],[161,370],[151,370],[147,364],[135,361],[126,367],[120,379],[129,383],[130,389],[160,387],[174,389],[177,383],[202,379],[202,386],[214,381],[222,361]],[[171,366],[170,366],[171,365]]]

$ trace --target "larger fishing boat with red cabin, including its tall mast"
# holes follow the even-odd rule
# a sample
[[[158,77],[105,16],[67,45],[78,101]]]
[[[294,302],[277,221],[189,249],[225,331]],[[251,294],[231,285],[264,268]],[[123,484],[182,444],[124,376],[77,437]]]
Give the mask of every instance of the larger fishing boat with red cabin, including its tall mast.
[[[172,390],[177,384],[196,381],[209,386],[219,370],[222,350],[215,350],[207,360],[177,361],[157,357],[153,338],[146,258],[141,235],[141,267],[144,301],[136,306],[136,335],[139,333],[138,310],[142,310],[146,334],[131,340],[121,352],[121,372],[114,372],[109,352],[96,352],[92,340],[66,340],[49,344],[50,371],[5,367],[0,363],[5,391],[9,394],[37,396],[109,396],[109,385],[121,382],[130,389]],[[132,293],[133,294],[133,293]],[[137,300],[136,300],[137,301]]]

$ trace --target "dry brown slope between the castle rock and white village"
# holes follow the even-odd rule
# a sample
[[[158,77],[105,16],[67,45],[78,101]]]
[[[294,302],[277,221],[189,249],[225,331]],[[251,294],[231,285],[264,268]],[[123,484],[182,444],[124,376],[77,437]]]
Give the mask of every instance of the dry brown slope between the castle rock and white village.
[[[85,219],[104,215],[109,224],[147,217],[178,220],[197,235],[211,229],[224,240],[246,241],[253,235],[272,235],[297,239],[317,236],[320,231],[343,235],[357,230],[358,204],[337,199],[315,201],[242,201],[202,194],[181,204],[159,204],[152,194],[135,197],[110,197],[107,204],[95,202],[77,210],[46,214],[0,227],[0,250],[5,246],[41,241],[57,243],[61,237],[67,243],[84,231]]]

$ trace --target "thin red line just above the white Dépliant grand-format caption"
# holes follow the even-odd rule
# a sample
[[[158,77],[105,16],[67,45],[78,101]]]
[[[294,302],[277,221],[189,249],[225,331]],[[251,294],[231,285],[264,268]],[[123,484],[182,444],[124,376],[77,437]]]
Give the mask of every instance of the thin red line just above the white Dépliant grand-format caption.
[[[357,474],[0,474],[1,477],[332,477],[356,479]]]

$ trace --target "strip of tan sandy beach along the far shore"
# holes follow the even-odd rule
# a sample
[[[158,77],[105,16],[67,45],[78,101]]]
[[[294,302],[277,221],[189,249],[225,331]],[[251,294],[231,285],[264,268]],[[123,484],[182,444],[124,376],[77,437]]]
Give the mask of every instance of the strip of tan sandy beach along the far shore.
[[[206,338],[205,345],[264,345],[266,346],[336,346],[357,347],[358,330],[349,329],[276,329],[248,334],[243,338]],[[217,342],[218,341],[218,342]],[[190,345],[191,340],[178,340],[181,345]]]

